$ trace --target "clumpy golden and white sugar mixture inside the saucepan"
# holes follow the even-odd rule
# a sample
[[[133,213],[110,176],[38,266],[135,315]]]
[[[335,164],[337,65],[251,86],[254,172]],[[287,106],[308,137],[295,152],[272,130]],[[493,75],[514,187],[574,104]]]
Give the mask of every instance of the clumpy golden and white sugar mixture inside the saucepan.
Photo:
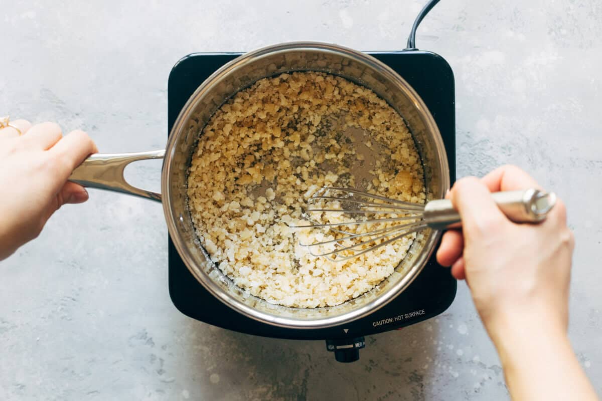
[[[385,100],[338,76],[295,72],[255,82],[213,115],[188,204],[200,242],[237,286],[273,304],[332,306],[393,273],[414,236],[344,262],[311,256],[299,240],[312,234],[289,225],[303,224],[323,186],[425,200],[414,141]]]

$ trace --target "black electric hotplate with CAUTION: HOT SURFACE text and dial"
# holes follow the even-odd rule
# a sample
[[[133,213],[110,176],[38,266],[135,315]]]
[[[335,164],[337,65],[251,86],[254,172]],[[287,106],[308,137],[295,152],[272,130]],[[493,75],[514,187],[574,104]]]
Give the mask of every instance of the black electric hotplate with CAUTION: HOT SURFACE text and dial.
[[[441,132],[456,179],[455,90],[453,72],[439,55],[425,51],[368,52],[404,78],[424,100]],[[238,57],[238,53],[199,53],[182,58],[173,67],[167,85],[169,131],[184,103],[211,73]],[[247,334],[299,340],[327,340],[337,360],[359,358],[364,335],[412,325],[442,313],[456,295],[456,280],[449,269],[431,257],[412,284],[389,304],[362,319],[324,329],[287,329],[260,323],[232,310],[193,277],[169,239],[169,293],[173,304],[187,316],[211,325]]]

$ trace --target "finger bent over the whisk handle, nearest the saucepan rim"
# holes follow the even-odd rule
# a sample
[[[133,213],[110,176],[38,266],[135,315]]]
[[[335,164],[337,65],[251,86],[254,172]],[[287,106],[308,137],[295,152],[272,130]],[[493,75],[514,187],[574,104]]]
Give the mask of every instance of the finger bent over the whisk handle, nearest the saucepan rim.
[[[508,221],[495,204],[489,189],[476,177],[465,177],[454,184],[452,204],[460,213],[465,242]]]

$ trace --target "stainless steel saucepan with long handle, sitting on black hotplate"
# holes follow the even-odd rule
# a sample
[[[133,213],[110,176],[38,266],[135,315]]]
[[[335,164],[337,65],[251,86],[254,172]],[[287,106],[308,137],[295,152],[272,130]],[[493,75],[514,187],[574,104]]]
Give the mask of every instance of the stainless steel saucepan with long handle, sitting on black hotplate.
[[[211,115],[237,91],[268,76],[321,71],[342,76],[376,92],[405,118],[420,153],[427,199],[440,199],[449,188],[447,155],[432,115],[418,94],[396,72],[369,55],[326,43],[284,43],[232,60],[209,76],[180,111],[165,150],[92,155],[70,180],[163,202],[169,234],[185,265],[214,296],[234,310],[285,328],[324,328],[350,322],[395,298],[429,260],[440,232],[423,231],[394,273],[370,292],[335,307],[290,308],[270,304],[235,286],[209,259],[199,243],[187,207],[187,173],[197,139]],[[123,169],[131,162],[163,158],[161,194],[129,185]]]

